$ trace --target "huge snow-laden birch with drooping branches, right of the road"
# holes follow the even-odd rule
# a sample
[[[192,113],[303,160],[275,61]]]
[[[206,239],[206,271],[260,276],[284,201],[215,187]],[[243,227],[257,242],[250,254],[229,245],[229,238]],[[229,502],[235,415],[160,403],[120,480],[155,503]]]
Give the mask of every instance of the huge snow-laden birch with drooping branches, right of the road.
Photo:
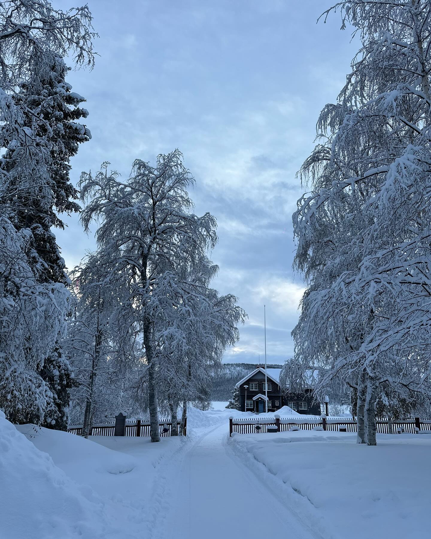
[[[302,368],[358,392],[358,441],[376,444],[382,386],[429,392],[431,4],[337,3],[362,48],[301,174],[295,265],[308,289],[293,331]]]

